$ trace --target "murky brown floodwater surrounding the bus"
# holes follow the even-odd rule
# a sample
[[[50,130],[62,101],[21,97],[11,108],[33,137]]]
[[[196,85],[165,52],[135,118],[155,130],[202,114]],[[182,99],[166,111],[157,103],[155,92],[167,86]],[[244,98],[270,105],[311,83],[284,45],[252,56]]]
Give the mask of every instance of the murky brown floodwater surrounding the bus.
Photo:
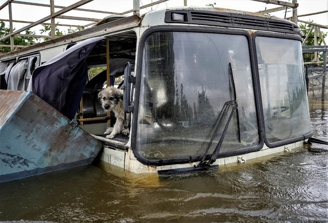
[[[328,141],[328,101],[310,100]],[[328,146],[159,178],[106,165],[0,184],[0,221],[327,222]],[[22,221],[21,221],[22,220]]]

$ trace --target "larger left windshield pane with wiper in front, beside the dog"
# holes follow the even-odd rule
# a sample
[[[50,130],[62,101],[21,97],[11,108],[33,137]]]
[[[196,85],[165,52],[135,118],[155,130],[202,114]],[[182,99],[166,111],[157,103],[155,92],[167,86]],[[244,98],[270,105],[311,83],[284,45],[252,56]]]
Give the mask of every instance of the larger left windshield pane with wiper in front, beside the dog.
[[[150,34],[142,58],[135,148],[139,155],[147,160],[203,155],[224,104],[235,99],[233,87],[238,110],[229,123],[220,154],[258,145],[250,67],[248,41],[243,35]],[[229,106],[209,153],[218,144],[231,110]]]

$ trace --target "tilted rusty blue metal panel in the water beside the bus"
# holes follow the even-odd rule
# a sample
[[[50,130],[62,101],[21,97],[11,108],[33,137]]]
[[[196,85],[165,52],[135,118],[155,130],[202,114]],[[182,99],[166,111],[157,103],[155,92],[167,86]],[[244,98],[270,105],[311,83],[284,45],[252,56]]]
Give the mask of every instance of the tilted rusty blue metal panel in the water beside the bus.
[[[102,144],[27,91],[0,90],[0,182],[90,164]]]

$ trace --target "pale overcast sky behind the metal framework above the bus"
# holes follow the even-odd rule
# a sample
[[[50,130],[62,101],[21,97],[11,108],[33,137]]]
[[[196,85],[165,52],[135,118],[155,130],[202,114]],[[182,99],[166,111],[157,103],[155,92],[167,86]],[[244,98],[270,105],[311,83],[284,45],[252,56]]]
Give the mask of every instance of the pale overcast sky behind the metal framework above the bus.
[[[0,5],[3,5],[7,0],[0,0]],[[49,0],[23,0],[24,2],[33,2],[33,3],[43,3],[50,4]],[[156,0],[153,0],[155,2]],[[292,2],[292,0],[284,0],[285,2]],[[54,0],[54,4],[58,6],[69,6],[78,2],[78,0]],[[151,0],[141,0],[140,6],[151,3]],[[183,0],[169,0],[165,3],[161,3],[157,6],[153,6],[152,8],[147,8],[141,10],[141,14],[155,9],[162,9],[167,7],[175,7],[175,6],[183,6]],[[298,0],[298,15],[319,12],[328,10],[328,0]],[[260,2],[255,2],[251,0],[187,0],[188,6],[206,6],[208,4],[215,4],[215,7],[221,8],[230,8],[237,10],[244,10],[250,12],[257,12],[260,10],[271,9],[279,7],[278,5],[273,4],[265,4]],[[80,8],[86,9],[94,9],[101,11],[110,11],[110,12],[124,12],[133,8],[132,0],[94,0]],[[56,8],[55,11],[59,11],[61,9]],[[46,17],[50,14],[50,9],[47,7],[37,7],[37,6],[27,6],[22,4],[12,4],[12,14],[14,20],[24,20],[35,22],[41,18]],[[79,17],[92,17],[92,18],[103,18],[108,14],[103,13],[91,13],[91,12],[83,12],[83,11],[71,11],[69,13],[65,13],[65,15],[70,16],[79,16]],[[271,15],[276,15],[278,17],[284,17],[285,11],[279,11],[271,13]],[[287,10],[286,17],[292,16],[292,9]],[[8,7],[5,7],[0,11],[0,19],[9,19]],[[299,17],[299,19],[303,21],[313,20],[314,23],[318,23],[321,25],[328,25],[328,13],[321,13],[318,15],[311,15],[306,17]],[[86,21],[71,21],[67,19],[56,19],[55,22],[59,22],[61,24],[75,24],[75,25],[86,25],[90,22]],[[9,23],[7,23],[9,24]],[[15,29],[21,29],[28,24],[23,23],[14,23]],[[32,28],[33,31],[38,33],[42,27],[37,26]],[[68,27],[62,27],[61,29],[67,30]],[[323,29],[323,31],[327,32],[327,29]],[[325,38],[326,42],[328,42],[328,38]]]

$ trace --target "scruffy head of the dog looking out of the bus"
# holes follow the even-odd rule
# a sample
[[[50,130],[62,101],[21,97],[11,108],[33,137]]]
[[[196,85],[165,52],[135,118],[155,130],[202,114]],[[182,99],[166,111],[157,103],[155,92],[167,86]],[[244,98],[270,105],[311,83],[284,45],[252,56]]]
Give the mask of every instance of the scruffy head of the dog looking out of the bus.
[[[110,86],[99,92],[98,99],[103,109],[113,110],[123,102],[123,90]]]

